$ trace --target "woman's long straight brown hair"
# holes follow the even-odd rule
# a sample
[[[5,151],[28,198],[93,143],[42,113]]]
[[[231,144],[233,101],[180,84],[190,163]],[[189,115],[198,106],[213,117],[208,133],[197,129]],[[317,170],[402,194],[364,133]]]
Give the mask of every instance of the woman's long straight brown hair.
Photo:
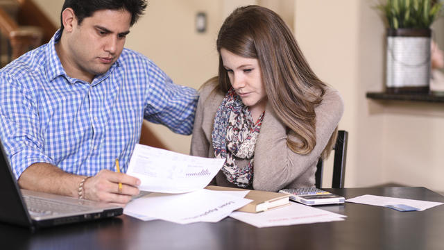
[[[316,146],[316,113],[326,85],[314,74],[293,34],[272,10],[261,6],[237,8],[225,19],[217,38],[219,90],[227,92],[230,79],[221,49],[245,58],[256,58],[271,107],[300,141],[287,139],[295,153],[307,154]],[[336,140],[336,131],[321,154],[325,158]]]

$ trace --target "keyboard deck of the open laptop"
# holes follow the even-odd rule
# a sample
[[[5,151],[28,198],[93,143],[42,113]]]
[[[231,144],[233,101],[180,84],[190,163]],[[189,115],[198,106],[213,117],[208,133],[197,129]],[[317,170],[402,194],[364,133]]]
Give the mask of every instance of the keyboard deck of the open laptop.
[[[28,211],[31,215],[60,215],[66,213],[76,213],[90,210],[85,206],[76,206],[70,203],[61,203],[60,201],[49,201],[37,197],[23,196]]]

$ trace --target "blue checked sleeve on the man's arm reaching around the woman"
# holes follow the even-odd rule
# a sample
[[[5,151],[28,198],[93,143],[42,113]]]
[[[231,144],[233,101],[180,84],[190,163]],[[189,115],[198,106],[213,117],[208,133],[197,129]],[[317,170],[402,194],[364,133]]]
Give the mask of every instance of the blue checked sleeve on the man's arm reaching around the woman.
[[[190,135],[198,103],[198,92],[176,85],[162,69],[148,61],[148,94],[144,118],[167,126],[174,133]]]

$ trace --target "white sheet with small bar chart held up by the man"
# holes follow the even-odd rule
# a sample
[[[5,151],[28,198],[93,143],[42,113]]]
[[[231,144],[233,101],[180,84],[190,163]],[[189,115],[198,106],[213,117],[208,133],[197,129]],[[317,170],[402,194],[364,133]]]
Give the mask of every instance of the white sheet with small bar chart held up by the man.
[[[178,194],[205,188],[224,162],[136,144],[126,174],[140,179],[139,190]]]

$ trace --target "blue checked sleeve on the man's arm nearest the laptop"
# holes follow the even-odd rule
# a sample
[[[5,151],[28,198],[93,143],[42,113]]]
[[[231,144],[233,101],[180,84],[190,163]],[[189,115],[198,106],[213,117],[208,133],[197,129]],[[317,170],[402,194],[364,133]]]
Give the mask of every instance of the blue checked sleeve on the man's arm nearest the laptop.
[[[7,74],[0,75],[0,136],[17,179],[33,163],[54,164],[42,151],[44,140],[33,94]]]

